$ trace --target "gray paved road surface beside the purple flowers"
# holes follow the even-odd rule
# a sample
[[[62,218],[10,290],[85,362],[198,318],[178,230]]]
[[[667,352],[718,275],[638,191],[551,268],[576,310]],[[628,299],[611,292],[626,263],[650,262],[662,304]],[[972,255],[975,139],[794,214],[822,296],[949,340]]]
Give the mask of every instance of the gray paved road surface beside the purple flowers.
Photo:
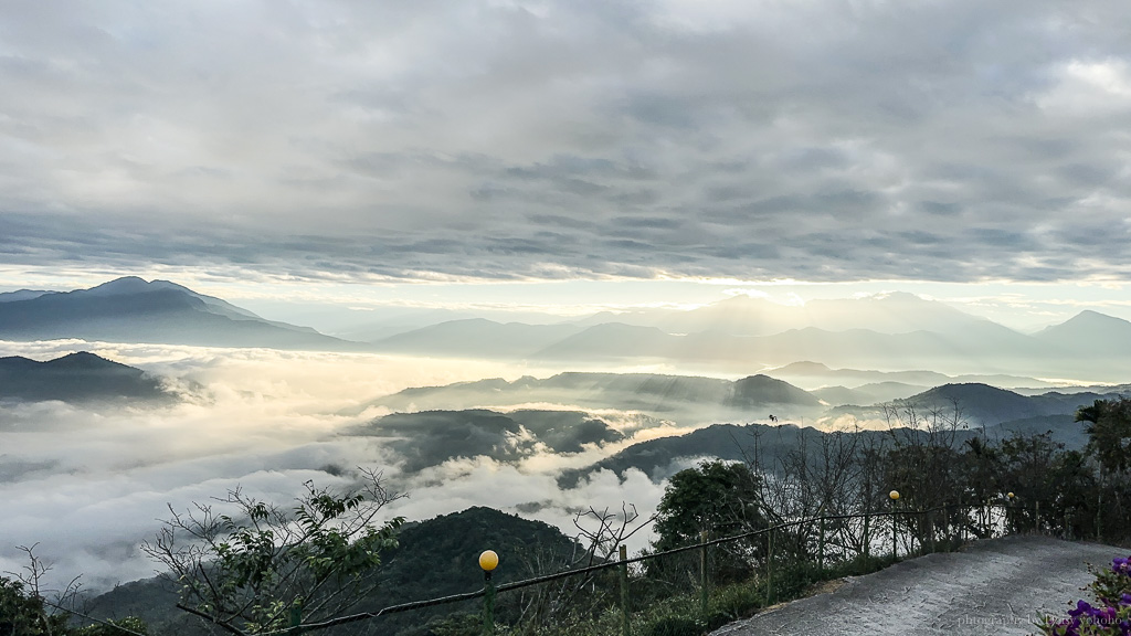
[[[929,555],[733,622],[711,636],[1036,634],[1037,611],[1062,616],[1104,566],[1131,550],[1044,536],[979,541]]]

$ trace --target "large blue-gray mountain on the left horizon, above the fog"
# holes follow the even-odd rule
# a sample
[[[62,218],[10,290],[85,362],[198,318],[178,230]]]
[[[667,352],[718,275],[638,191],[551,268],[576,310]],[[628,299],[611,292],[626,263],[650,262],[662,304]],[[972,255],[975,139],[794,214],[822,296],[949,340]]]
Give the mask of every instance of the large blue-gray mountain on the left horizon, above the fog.
[[[17,292],[18,293],[18,292]],[[118,278],[89,290],[0,303],[0,338],[352,350],[363,345],[266,320],[167,281]]]

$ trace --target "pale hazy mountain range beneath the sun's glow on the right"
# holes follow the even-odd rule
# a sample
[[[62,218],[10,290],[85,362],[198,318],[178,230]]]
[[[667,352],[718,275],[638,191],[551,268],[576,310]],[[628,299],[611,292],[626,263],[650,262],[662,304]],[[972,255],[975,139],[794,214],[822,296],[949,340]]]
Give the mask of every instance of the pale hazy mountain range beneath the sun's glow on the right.
[[[379,341],[382,351],[538,360],[546,363],[630,361],[672,362],[718,372],[777,369],[774,375],[792,381],[793,375],[827,375],[806,388],[875,381],[900,381],[934,386],[955,376],[1009,387],[1055,386],[1033,377],[1080,378],[1087,383],[1125,381],[1123,356],[1131,353],[1131,323],[1102,315],[1081,315],[1064,328],[1037,336],[1021,334],[993,321],[965,315],[946,304],[912,294],[844,301],[813,301],[806,308],[817,320],[797,308],[776,306],[769,329],[740,328],[751,316],[765,316],[768,301],[735,298],[701,310],[707,313],[646,310],[602,313],[571,325],[500,324],[484,319],[454,320],[402,333]],[[812,306],[812,308],[810,307]],[[830,329],[835,315],[845,316],[849,329]],[[708,316],[710,319],[694,319]],[[792,318],[791,318],[792,317]],[[865,319],[867,318],[867,319]],[[869,320],[874,318],[874,324]],[[1087,318],[1088,320],[1085,320]],[[1070,329],[1072,323],[1086,325]],[[822,326],[813,326],[813,324]],[[763,327],[769,325],[763,320]],[[896,330],[898,327],[914,327]],[[930,327],[930,328],[927,328]],[[1073,335],[1078,332],[1078,335]],[[758,335],[749,335],[757,333]],[[1124,349],[1126,351],[1124,351]],[[797,361],[814,361],[820,369],[791,369]],[[887,376],[880,371],[854,371],[848,377],[829,367],[855,369],[934,369]],[[815,384],[815,386],[814,386]]]

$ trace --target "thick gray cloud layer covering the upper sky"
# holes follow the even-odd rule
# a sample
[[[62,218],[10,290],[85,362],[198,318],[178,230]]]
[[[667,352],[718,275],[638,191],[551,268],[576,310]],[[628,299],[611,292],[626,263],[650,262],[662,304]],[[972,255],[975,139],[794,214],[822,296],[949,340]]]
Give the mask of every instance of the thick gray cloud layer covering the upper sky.
[[[0,263],[1131,275],[1122,0],[9,3]]]

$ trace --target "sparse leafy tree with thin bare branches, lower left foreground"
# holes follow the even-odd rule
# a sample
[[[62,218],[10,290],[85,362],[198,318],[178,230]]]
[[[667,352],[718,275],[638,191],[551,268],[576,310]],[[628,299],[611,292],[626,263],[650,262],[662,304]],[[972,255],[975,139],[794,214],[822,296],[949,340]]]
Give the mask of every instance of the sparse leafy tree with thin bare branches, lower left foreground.
[[[380,473],[361,471],[347,492],[304,484],[293,508],[259,501],[236,488],[195,504],[141,549],[169,568],[184,611],[233,634],[286,627],[295,614],[323,620],[348,610],[377,586],[381,551],[396,547],[400,517],[375,524],[378,513],[404,497]]]

